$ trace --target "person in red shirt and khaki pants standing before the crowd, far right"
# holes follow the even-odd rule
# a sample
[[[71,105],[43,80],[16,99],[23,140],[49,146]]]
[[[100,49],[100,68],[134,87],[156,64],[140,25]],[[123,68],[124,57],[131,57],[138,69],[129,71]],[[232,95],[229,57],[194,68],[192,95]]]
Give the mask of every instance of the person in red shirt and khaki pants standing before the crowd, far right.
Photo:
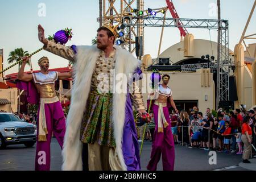
[[[243,150],[243,163],[251,163],[249,159],[250,152],[251,152],[251,141],[252,141],[252,131],[251,127],[249,125],[249,116],[246,116],[243,118],[243,124],[242,124],[242,142],[244,145]]]

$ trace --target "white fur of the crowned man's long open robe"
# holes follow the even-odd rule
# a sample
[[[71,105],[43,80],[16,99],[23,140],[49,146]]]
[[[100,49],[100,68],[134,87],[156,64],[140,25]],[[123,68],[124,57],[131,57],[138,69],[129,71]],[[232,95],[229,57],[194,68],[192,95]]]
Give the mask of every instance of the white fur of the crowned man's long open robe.
[[[133,55],[124,49],[115,47],[115,75],[133,73],[141,64]],[[90,92],[90,82],[95,69],[100,49],[96,46],[77,46],[76,63],[74,66],[74,85],[72,88],[71,106],[67,117],[67,128],[63,145],[63,170],[82,170],[82,142],[80,127],[86,101]],[[123,170],[127,170],[122,152],[123,125],[125,122],[126,93],[113,94],[113,116],[115,138],[115,154],[121,162]]]

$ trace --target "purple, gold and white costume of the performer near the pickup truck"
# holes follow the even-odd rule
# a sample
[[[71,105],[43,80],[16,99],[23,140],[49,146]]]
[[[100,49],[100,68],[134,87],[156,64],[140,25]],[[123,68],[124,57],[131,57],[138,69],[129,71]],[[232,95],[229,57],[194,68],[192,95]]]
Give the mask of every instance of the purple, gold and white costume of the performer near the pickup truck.
[[[65,117],[59,98],[55,92],[55,81],[58,73],[49,71],[32,73],[33,81],[19,81],[19,89],[27,90],[27,101],[39,104],[37,121],[37,140],[35,170],[48,171],[51,164],[52,132],[62,149],[65,134]]]

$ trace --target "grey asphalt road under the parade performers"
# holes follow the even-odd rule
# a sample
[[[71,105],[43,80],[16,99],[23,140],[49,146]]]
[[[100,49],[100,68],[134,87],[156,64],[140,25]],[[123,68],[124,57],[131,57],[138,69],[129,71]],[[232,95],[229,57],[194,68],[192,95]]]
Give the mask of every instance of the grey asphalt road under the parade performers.
[[[144,142],[141,167],[146,170],[150,159],[151,142]],[[211,155],[212,156],[212,155]],[[216,152],[216,164],[209,164],[209,151],[199,148],[188,148],[185,146],[175,146],[175,170],[179,171],[244,171],[256,170],[256,159],[251,159],[251,164],[241,163],[242,155],[224,154]],[[59,171],[61,167],[61,149],[57,140],[52,138],[51,143],[51,170]],[[7,146],[0,150],[0,170],[1,171],[33,171],[35,162],[35,146],[26,148],[23,144]],[[162,171],[162,159],[158,163],[158,170]]]

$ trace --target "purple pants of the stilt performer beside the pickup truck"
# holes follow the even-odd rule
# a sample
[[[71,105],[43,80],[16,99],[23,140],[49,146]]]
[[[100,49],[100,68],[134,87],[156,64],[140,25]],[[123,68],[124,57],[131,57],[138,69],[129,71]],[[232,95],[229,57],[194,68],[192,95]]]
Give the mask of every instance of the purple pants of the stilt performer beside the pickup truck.
[[[39,116],[40,105],[38,109]],[[46,125],[48,134],[46,134],[46,141],[36,142],[36,157],[35,157],[35,170],[36,171],[49,171],[51,164],[51,138],[52,131],[62,149],[65,134],[65,117],[60,102],[52,104],[45,104],[44,110],[46,112]],[[39,131],[39,130],[38,130]],[[38,136],[38,135],[37,135]]]

